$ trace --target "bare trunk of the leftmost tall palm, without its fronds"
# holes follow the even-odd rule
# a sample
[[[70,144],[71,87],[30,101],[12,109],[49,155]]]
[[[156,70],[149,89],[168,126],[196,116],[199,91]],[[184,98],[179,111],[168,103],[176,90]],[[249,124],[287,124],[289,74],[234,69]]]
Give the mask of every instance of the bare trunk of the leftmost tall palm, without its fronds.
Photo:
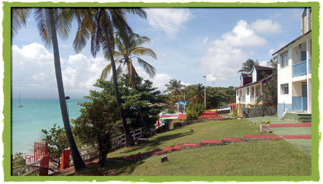
[[[66,137],[68,140],[68,146],[71,150],[71,155],[73,157],[74,169],[75,171],[80,171],[81,169],[85,168],[86,165],[80,153],[78,152],[78,147],[75,144],[73,134],[71,131],[71,126],[69,124],[67,106],[65,102],[62,71],[61,71],[60,59],[59,59],[56,26],[55,26],[54,13],[52,8],[48,8],[48,15],[49,15],[49,21],[50,21],[50,29],[51,29],[50,31],[52,36],[52,44],[53,44],[53,52],[54,52],[54,66],[55,66],[55,74],[56,74],[56,81],[57,81],[59,105],[62,113]]]

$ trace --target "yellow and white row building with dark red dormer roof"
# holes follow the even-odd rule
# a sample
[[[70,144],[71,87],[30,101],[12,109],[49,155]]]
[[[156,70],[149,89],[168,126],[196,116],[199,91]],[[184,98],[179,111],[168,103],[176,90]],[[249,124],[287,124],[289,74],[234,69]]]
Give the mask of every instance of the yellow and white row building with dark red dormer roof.
[[[241,73],[240,86],[236,90],[236,108],[241,116],[241,108],[254,107],[259,94],[262,93],[264,85],[271,78],[275,68],[255,65],[250,74]],[[265,78],[263,73],[267,74]]]

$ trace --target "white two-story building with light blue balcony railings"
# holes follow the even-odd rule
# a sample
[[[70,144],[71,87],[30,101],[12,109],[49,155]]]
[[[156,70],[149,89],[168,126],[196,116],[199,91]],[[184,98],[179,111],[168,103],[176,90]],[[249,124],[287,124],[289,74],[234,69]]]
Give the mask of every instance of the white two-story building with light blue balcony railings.
[[[312,96],[311,7],[304,8],[301,22],[301,36],[273,54],[277,54],[278,59],[277,113],[279,118],[310,122]],[[286,112],[288,112],[287,116]],[[309,118],[305,118],[305,116],[309,116]],[[302,119],[307,120],[302,121]]]

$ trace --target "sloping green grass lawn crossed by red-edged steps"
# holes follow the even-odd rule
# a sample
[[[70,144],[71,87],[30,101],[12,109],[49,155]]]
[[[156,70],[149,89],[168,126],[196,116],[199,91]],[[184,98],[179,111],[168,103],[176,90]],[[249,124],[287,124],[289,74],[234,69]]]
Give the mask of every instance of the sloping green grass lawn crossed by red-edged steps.
[[[190,132],[190,129],[194,132]],[[148,143],[133,148],[121,148],[108,157],[131,156],[165,146],[199,143],[203,139],[242,138],[257,134],[259,126],[244,119],[212,121],[171,129],[149,138]],[[266,134],[268,135],[268,134]],[[270,134],[269,134],[270,135]],[[308,176],[311,175],[311,155],[285,140],[235,143],[205,146],[166,154],[169,161],[161,163],[161,155],[138,162],[106,163],[86,168],[83,172],[116,169],[124,176]]]

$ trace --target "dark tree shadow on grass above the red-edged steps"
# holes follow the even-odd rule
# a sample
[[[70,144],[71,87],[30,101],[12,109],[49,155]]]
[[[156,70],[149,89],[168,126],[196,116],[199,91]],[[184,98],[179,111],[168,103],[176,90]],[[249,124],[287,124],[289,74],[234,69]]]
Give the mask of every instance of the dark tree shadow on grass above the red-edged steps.
[[[172,130],[170,130],[168,132],[171,132],[171,131]],[[171,139],[176,139],[176,138],[179,138],[179,137],[183,137],[183,136],[186,136],[186,135],[192,135],[192,134],[194,134],[194,132],[176,133],[176,134],[163,135],[163,136],[158,136],[157,135],[156,137],[153,137],[154,138],[153,140],[149,140],[147,143],[142,143],[140,145],[137,144],[135,147],[127,149],[127,150],[125,150],[125,151],[123,151],[121,153],[130,153],[130,152],[142,149],[143,147],[150,148],[151,150],[149,150],[149,151],[153,151],[155,149],[162,149],[163,147],[162,148],[157,147],[162,142],[168,141],[168,140],[171,140]],[[172,145],[168,145],[168,146],[172,146]],[[140,152],[138,152],[138,153],[140,153]],[[132,156],[132,155],[129,155],[129,156]]]

